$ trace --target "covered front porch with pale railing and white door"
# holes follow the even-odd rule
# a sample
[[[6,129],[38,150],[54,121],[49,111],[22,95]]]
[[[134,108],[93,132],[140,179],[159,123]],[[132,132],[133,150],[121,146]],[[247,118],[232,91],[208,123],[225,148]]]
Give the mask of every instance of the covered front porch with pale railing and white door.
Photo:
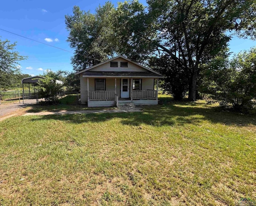
[[[87,77],[86,81],[88,107],[118,107],[126,103],[133,103],[134,105],[158,104],[158,79],[156,79],[156,89],[154,78],[103,79]],[[98,89],[101,90],[97,91]]]

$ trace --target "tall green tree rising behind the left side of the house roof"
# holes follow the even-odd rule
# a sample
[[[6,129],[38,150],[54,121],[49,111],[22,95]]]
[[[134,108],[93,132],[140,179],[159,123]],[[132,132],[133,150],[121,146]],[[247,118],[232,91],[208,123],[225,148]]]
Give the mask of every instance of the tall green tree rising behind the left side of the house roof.
[[[114,49],[109,44],[112,38],[110,14],[113,4],[106,2],[99,6],[95,14],[84,12],[78,6],[73,8],[73,16],[66,15],[66,28],[69,32],[68,42],[75,49],[72,57],[74,71],[80,71],[107,60]]]

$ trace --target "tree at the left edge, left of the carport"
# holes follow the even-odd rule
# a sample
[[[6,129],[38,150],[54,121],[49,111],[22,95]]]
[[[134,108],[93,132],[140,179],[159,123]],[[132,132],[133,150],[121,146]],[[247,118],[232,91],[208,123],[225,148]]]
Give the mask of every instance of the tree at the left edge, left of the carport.
[[[16,75],[20,74],[18,61],[27,58],[19,55],[15,46],[15,42],[10,44],[10,41],[0,39],[0,89],[8,89],[12,85]]]

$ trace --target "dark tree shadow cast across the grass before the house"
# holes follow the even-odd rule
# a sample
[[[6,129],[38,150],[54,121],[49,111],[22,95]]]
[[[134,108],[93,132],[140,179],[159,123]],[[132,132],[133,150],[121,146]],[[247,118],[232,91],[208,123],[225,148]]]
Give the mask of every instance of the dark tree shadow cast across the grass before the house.
[[[216,107],[210,107],[205,103],[191,103],[188,101],[175,102],[164,99],[163,105],[143,107],[143,112],[134,113],[96,113],[86,115],[45,115],[32,119],[55,119],[72,123],[104,122],[113,118],[120,118],[124,125],[139,126],[147,124],[152,126],[197,124],[208,120],[212,123],[226,125],[246,126],[256,125],[255,116],[240,115],[238,113],[221,112]],[[188,107],[188,105],[190,107]]]

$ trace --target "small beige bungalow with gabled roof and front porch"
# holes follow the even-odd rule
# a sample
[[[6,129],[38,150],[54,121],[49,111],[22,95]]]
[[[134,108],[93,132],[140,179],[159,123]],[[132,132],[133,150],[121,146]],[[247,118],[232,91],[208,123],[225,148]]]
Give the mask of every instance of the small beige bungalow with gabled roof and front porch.
[[[78,71],[78,74],[80,101],[88,103],[88,107],[157,105],[158,79],[164,78],[122,55]]]

